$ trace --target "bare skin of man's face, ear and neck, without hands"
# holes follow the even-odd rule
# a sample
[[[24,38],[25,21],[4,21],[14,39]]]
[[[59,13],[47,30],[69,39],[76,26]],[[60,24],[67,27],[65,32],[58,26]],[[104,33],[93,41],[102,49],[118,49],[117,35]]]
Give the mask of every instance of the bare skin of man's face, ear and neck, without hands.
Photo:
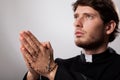
[[[98,54],[106,50],[109,35],[115,22],[104,24],[100,14],[89,6],[78,6],[74,13],[75,44],[87,54]]]

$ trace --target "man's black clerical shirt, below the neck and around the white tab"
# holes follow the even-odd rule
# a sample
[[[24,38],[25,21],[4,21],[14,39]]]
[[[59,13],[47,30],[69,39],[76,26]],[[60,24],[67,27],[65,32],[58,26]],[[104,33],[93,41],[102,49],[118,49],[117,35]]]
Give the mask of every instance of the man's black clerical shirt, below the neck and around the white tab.
[[[120,55],[112,48],[92,55],[92,62],[86,62],[84,58],[78,55],[69,59],[56,59],[58,69],[55,80],[120,80]],[[48,79],[42,77],[41,80]]]

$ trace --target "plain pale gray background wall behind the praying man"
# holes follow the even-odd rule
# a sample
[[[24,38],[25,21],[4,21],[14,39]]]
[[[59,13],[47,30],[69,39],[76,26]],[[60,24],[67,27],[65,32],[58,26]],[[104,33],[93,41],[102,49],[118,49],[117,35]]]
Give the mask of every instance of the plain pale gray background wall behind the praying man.
[[[80,54],[74,44],[75,0],[0,0],[0,80],[22,80],[27,68],[19,50],[19,32],[30,30],[40,41],[50,41],[54,56]],[[120,10],[120,0],[114,0]],[[110,44],[120,53],[120,37]]]

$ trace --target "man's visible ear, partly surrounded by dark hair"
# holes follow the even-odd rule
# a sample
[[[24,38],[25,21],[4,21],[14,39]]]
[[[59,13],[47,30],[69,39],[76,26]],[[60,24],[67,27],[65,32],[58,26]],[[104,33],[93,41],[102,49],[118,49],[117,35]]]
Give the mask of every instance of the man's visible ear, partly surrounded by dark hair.
[[[116,27],[115,21],[111,20],[107,25],[106,25],[106,34],[109,35],[111,34]]]

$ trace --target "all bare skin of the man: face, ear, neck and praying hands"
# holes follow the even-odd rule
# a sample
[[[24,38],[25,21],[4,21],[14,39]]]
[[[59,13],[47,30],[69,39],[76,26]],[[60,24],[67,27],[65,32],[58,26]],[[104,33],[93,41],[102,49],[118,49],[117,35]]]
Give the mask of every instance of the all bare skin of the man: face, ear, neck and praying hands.
[[[99,54],[106,50],[109,35],[115,29],[115,22],[111,20],[103,24],[99,13],[88,6],[78,6],[74,12],[75,44],[82,47],[86,54]],[[39,75],[54,80],[58,65],[48,72],[46,67],[56,65],[50,42],[40,42],[30,31],[20,33],[20,50],[28,68],[27,80],[37,80]],[[49,59],[50,57],[50,59]]]

